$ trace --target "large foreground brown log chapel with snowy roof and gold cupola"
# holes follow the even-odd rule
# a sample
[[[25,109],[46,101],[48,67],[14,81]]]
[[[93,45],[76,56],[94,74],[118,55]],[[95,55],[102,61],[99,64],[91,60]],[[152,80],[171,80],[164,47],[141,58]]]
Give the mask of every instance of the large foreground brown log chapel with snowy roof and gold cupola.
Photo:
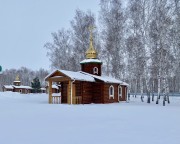
[[[86,59],[80,62],[81,71],[55,70],[45,80],[49,82],[49,103],[90,104],[126,101],[128,84],[101,75],[102,62],[93,47],[92,32]],[[61,95],[53,96],[52,83],[61,84]],[[61,98],[60,98],[61,97]]]

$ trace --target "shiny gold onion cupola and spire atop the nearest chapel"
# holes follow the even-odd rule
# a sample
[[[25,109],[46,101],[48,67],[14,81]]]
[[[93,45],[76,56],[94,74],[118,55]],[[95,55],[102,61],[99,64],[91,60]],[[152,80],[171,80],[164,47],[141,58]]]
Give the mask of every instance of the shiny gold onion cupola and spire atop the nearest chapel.
[[[93,26],[89,27],[89,32],[90,32],[89,49],[85,53],[87,59],[96,59],[97,58],[97,52],[93,46],[93,35],[92,35],[93,28],[94,28]]]

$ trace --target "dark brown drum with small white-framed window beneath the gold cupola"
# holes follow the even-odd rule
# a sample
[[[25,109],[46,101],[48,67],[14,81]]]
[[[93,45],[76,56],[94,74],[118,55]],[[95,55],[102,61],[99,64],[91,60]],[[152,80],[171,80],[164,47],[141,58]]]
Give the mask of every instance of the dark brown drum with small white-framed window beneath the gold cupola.
[[[94,74],[93,68],[98,68],[98,74]],[[81,71],[101,76],[101,63],[85,63],[81,64]]]

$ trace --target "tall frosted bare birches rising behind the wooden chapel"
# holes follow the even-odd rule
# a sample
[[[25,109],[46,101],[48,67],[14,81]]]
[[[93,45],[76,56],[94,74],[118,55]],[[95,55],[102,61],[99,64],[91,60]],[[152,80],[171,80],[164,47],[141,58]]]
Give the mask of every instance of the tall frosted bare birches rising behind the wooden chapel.
[[[103,74],[137,92],[180,92],[179,0],[100,0],[98,16],[77,9],[70,28],[52,33],[47,56],[52,69],[80,70],[89,46],[89,26]]]

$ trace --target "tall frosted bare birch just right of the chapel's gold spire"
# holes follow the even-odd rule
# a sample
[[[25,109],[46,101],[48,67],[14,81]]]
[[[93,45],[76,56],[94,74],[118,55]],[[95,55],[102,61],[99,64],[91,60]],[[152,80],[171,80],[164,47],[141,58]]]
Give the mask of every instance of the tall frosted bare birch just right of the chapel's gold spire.
[[[106,74],[124,78],[124,31],[125,16],[121,0],[101,0],[101,36]]]

